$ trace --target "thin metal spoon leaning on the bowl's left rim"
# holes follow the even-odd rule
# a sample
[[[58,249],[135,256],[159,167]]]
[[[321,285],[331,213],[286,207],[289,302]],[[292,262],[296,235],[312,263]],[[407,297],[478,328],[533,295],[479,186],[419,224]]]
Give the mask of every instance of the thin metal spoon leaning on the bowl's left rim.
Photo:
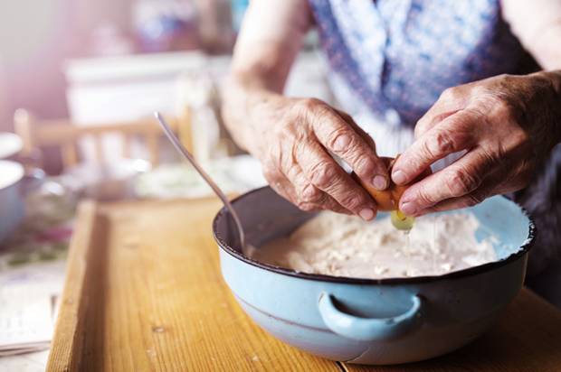
[[[189,151],[187,151],[187,149],[183,144],[181,144],[179,138],[177,138],[176,134],[171,130],[169,125],[167,125],[164,117],[161,116],[159,112],[155,112],[154,116],[156,116],[160,126],[162,126],[162,129],[164,129],[164,133],[166,134],[167,139],[169,139],[169,141],[174,145],[177,152],[181,153],[185,157],[185,159],[187,159],[189,163],[191,163],[195,167],[196,172],[199,172],[201,177],[203,177],[204,181],[206,181],[206,183],[211,187],[211,189],[213,189],[214,193],[218,196],[218,198],[222,200],[224,207],[226,207],[226,209],[228,209],[228,211],[232,215],[233,222],[235,223],[236,228],[238,230],[238,237],[240,237],[240,244],[242,245],[242,249],[243,249],[245,247],[245,234],[243,234],[242,222],[236,211],[233,209],[230,200],[228,200],[226,195],[223,193],[222,190],[220,190],[220,188],[218,187],[218,185],[216,185],[213,179],[206,172],[204,172],[203,168],[201,168],[201,166],[198,163],[196,163],[193,155],[189,153]]]

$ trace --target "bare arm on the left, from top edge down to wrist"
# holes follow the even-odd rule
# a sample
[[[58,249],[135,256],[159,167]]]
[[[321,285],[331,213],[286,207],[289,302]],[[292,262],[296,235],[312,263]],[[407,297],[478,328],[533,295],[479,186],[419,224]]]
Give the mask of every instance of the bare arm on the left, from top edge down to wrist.
[[[252,124],[260,120],[262,108],[274,111],[310,17],[305,0],[253,0],[245,15],[223,88],[223,118],[234,140],[248,151]]]

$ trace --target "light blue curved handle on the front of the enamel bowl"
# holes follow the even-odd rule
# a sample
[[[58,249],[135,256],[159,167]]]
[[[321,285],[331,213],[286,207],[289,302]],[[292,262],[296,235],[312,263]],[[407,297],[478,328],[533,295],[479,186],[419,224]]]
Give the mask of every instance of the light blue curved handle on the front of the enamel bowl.
[[[412,306],[409,310],[391,318],[363,318],[342,312],[333,303],[334,299],[332,294],[321,293],[319,313],[329,330],[348,339],[393,339],[414,330],[422,321],[423,297],[418,294],[411,297]]]

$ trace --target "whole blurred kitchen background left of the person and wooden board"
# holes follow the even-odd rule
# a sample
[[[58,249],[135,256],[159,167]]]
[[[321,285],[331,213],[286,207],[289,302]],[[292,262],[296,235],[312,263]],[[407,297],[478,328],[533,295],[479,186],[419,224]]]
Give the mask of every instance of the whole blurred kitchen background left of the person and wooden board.
[[[0,357],[48,348],[81,200],[210,195],[154,111],[224,191],[265,184],[219,108],[247,5],[0,2]],[[317,50],[309,33],[285,93],[332,102]],[[0,370],[43,370],[45,360],[46,352],[0,358]]]

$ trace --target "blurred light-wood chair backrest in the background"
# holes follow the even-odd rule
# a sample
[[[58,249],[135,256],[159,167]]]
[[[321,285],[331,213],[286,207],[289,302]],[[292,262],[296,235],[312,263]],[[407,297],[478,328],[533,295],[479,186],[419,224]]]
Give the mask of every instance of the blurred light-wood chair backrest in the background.
[[[169,117],[166,121],[174,132],[179,135],[187,149],[192,150],[191,123],[189,110],[185,109],[182,116]],[[152,165],[159,163],[159,139],[163,135],[161,128],[153,116],[128,122],[100,123],[88,126],[76,126],[68,119],[37,120],[24,109],[18,109],[14,114],[15,133],[22,137],[24,148],[22,155],[33,159],[37,165],[43,165],[43,148],[47,146],[59,147],[62,154],[64,168],[79,163],[77,144],[82,138],[92,138],[95,160],[98,163],[106,161],[103,153],[102,141],[106,135],[117,134],[122,137],[124,157],[130,157],[133,138],[140,137],[147,147],[148,160]]]

